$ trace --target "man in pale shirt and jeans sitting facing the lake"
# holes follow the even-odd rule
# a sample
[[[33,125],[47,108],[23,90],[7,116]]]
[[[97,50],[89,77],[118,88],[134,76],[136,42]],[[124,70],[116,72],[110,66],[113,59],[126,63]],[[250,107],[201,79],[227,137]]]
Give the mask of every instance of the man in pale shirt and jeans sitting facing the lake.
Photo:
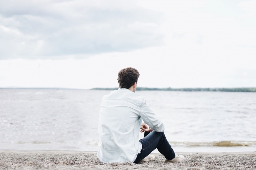
[[[165,163],[181,162],[185,158],[175,155],[164,135],[164,124],[145,99],[134,93],[139,75],[134,68],[120,70],[117,79],[119,89],[103,96],[98,124],[100,150],[97,156],[104,163],[140,163],[154,159],[150,153],[157,148],[166,158]],[[151,132],[138,141],[139,130]]]

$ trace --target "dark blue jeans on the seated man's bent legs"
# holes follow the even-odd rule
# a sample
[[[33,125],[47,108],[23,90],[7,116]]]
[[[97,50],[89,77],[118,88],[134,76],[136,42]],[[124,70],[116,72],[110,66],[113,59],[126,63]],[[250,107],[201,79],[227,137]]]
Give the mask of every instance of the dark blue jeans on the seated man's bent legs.
[[[164,132],[145,132],[144,138],[139,140],[139,142],[142,144],[142,150],[137,155],[134,161],[135,164],[140,163],[140,161],[154,151],[155,148],[157,148],[166,159],[171,160],[175,158],[174,150],[166,140]]]

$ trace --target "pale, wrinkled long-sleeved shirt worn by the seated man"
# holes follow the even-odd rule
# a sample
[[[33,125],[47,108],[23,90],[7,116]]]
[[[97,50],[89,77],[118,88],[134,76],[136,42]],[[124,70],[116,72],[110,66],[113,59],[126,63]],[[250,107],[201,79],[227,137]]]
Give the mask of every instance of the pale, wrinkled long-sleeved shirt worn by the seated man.
[[[142,149],[138,141],[142,119],[151,129],[164,131],[164,124],[142,96],[128,89],[118,89],[103,96],[97,157],[104,163],[133,162]]]

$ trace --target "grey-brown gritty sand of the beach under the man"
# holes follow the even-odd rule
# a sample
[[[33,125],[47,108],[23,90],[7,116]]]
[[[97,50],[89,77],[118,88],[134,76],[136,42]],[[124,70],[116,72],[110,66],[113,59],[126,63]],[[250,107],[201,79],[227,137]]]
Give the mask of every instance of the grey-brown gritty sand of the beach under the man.
[[[149,162],[134,164],[102,163],[96,152],[76,151],[0,151],[0,170],[5,169],[139,169],[139,170],[201,170],[201,169],[256,169],[256,152],[240,153],[176,153],[185,156],[181,163],[163,163],[161,154],[154,154]]]

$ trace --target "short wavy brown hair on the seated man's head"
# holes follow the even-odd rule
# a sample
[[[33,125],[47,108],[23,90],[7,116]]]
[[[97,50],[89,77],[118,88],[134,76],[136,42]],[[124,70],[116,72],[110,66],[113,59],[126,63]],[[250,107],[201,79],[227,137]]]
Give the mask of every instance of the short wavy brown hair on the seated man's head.
[[[135,82],[138,82],[138,78],[138,70],[128,67],[119,71],[117,80],[121,89],[129,89]]]

